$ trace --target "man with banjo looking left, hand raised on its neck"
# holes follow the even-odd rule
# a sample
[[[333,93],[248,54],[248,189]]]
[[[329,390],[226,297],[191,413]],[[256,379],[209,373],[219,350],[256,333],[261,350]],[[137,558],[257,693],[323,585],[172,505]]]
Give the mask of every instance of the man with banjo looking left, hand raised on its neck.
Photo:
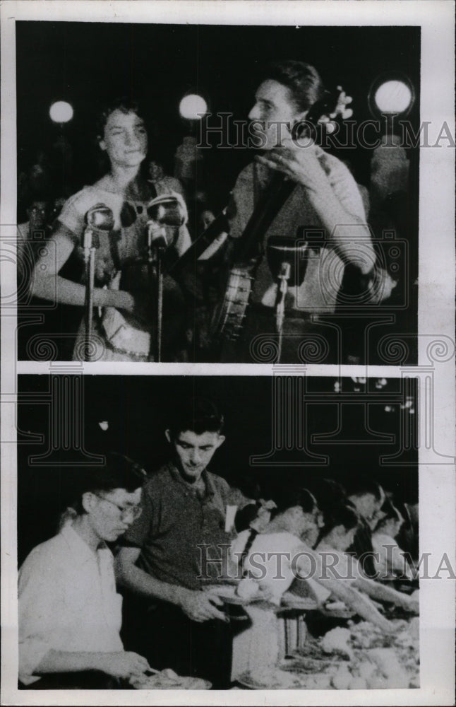
[[[304,62],[275,62],[263,72],[248,114],[263,153],[240,173],[227,209],[227,252],[235,267],[218,325],[222,338],[237,341],[224,346],[224,361],[303,361],[300,346],[320,346],[328,336],[318,315],[334,312],[344,267],[350,264],[361,276],[373,270],[376,255],[354,178],[340,160],[299,134],[325,95],[317,71]],[[331,117],[349,117],[349,100],[340,93]],[[286,198],[271,212],[284,181]],[[253,239],[252,219],[260,223]],[[271,348],[274,358],[266,361],[262,356]]]

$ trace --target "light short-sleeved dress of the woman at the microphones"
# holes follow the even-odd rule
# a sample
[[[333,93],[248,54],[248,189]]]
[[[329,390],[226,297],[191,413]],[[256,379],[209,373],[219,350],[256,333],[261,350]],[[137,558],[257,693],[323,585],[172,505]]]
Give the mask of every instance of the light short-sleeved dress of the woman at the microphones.
[[[157,182],[155,187],[157,197],[174,197],[179,202],[181,215],[184,218],[183,225],[177,231],[172,226],[164,226],[164,231],[169,250],[175,251],[176,255],[182,255],[191,245],[186,227],[188,214],[184,199],[181,194],[170,189],[164,180]],[[78,259],[83,260],[85,215],[96,204],[108,206],[114,218],[114,228],[109,232],[98,231],[96,235],[95,286],[134,291],[136,297],[143,296],[148,302],[150,276],[146,252],[147,206],[151,201],[150,185],[143,185],[142,199],[130,199],[124,194],[110,191],[108,177],[102,177],[94,185],[84,187],[66,201],[59,221],[73,234],[74,252]],[[165,278],[165,287],[168,280]],[[174,281],[172,286],[177,288]],[[148,361],[151,331],[152,322],[144,325],[136,321],[135,317],[124,317],[124,313],[115,308],[105,308],[100,319],[94,317],[93,360]],[[83,356],[84,340],[85,325],[82,322],[73,351],[73,360],[80,361]]]

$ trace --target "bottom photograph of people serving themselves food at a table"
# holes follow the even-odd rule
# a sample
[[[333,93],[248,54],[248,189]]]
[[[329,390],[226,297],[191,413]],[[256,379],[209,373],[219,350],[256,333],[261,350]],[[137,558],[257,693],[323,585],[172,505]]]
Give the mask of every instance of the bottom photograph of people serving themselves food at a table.
[[[419,687],[416,380],[22,375],[18,687]]]

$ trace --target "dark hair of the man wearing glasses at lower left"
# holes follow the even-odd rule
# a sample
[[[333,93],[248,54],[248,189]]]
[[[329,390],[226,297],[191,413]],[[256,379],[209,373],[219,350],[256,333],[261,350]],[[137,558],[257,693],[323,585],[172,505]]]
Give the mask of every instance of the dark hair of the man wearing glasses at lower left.
[[[82,496],[88,491],[125,489],[128,493],[132,493],[145,482],[147,476],[145,470],[129,457],[117,452],[108,452],[105,458],[106,463],[103,467],[90,467],[80,474],[77,481],[78,498],[71,503],[71,508],[74,508],[78,515],[85,513]]]

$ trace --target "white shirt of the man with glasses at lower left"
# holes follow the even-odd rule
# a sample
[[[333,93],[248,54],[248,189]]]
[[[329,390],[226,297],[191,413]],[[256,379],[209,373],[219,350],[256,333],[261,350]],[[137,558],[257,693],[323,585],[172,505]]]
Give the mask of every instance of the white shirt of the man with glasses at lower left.
[[[49,652],[124,650],[119,636],[121,595],[112,552],[93,552],[68,524],[35,549],[19,571],[19,679],[40,679],[35,669]]]

